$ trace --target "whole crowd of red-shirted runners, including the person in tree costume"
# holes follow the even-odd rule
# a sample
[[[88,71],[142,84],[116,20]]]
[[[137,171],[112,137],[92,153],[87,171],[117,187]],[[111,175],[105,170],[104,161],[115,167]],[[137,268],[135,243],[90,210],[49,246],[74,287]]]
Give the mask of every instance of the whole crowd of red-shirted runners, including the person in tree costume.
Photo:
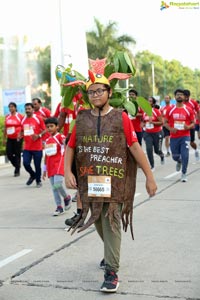
[[[199,160],[195,132],[200,139],[200,105],[190,98],[189,90],[177,89],[174,91],[176,104],[171,104],[171,97],[166,95],[165,105],[160,107],[156,99],[150,96],[147,101],[152,107],[152,116],[147,115],[141,107],[138,107],[136,116],[131,116],[109,105],[112,89],[107,78],[103,75],[94,78],[95,81],[90,80],[86,85],[92,109],[78,110],[80,95],[74,97],[74,109],[62,108],[59,103],[54,114],[42,107],[40,98],[25,104],[24,115],[17,112],[16,103],[9,103],[4,143],[15,177],[20,176],[22,157],[24,169],[29,175],[27,186],[35,181],[36,187],[41,188],[42,179],[49,179],[56,206],[53,216],[63,214],[70,208],[71,202],[76,201],[77,212],[72,218],[66,219],[65,224],[74,230],[84,230],[95,224],[104,244],[100,267],[105,269],[105,275],[100,290],[115,292],[119,286],[120,221],[122,218],[126,228],[128,217],[123,216],[131,215],[133,208],[126,204],[130,197],[127,189],[131,189],[131,185],[126,186],[130,178],[127,179],[124,174],[136,177],[134,163],[138,164],[146,176],[147,192],[150,196],[155,195],[155,153],[162,165],[165,164],[165,157],[171,156],[176,162],[176,171],[181,171],[181,182],[186,182],[190,147],[194,149],[196,160]],[[137,91],[130,89],[129,97],[137,102]],[[76,124],[70,132],[72,120],[76,120]],[[146,154],[142,149],[143,141]],[[101,166],[99,161],[108,160],[108,153],[116,156],[116,148],[115,160],[104,161]],[[91,175],[97,182],[93,181]],[[132,185],[133,197],[135,184]],[[72,199],[68,188],[77,190],[76,198]],[[102,193],[104,202],[101,200]],[[92,220],[85,224],[89,208]]]

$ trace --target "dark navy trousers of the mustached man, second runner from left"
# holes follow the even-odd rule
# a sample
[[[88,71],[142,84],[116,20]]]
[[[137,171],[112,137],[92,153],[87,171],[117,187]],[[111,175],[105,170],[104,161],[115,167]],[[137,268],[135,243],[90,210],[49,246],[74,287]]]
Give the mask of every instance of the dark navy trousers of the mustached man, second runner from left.
[[[36,182],[41,182],[41,162],[42,162],[42,150],[39,151],[31,151],[31,150],[23,150],[23,165],[25,170],[30,174],[30,177],[36,179]],[[33,159],[33,163],[35,166],[35,171],[31,167],[31,161]]]

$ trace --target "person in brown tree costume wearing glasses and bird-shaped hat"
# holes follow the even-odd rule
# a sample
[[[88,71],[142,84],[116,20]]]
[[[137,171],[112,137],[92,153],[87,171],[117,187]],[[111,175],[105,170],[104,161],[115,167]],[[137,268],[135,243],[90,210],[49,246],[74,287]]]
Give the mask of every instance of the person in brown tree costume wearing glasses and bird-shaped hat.
[[[133,199],[137,163],[146,176],[146,189],[155,195],[156,183],[146,156],[137,141],[127,113],[109,104],[112,96],[110,80],[120,75],[105,77],[104,70],[93,65],[86,82],[91,109],[78,113],[76,124],[65,152],[65,182],[77,188],[82,201],[82,213],[73,226],[90,217],[78,232],[95,224],[104,243],[105,274],[102,292],[116,292],[119,286],[121,220],[123,229],[130,225],[132,238]],[[125,79],[123,74],[122,79]],[[72,173],[75,156],[78,178]],[[78,181],[78,182],[77,182]]]

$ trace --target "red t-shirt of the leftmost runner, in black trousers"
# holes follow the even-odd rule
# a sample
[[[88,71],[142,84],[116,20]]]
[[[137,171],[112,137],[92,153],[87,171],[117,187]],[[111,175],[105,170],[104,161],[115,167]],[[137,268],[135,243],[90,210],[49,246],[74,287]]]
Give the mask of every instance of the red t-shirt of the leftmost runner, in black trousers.
[[[9,114],[5,117],[6,135],[9,139],[17,139],[22,130],[21,121],[23,116],[16,112],[15,115]]]

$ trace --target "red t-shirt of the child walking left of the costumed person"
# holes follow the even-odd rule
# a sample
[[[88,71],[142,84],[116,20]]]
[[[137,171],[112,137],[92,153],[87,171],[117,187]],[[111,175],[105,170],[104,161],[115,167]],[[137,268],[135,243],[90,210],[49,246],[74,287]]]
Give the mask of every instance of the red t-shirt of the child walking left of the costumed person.
[[[45,142],[45,160],[48,177],[64,176],[64,143],[66,137],[61,133],[50,136]]]

